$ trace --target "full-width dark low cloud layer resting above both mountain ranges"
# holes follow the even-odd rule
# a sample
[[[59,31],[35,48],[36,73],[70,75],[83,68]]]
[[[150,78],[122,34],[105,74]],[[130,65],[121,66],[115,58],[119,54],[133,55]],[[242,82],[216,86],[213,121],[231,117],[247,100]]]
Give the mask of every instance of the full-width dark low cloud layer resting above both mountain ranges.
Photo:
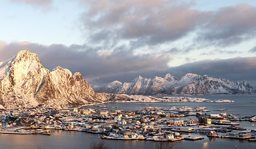
[[[170,73],[180,78],[186,73],[228,78],[230,80],[247,80],[256,88],[256,57],[235,57],[231,59],[202,60],[186,63],[177,67],[168,67],[167,55],[133,55],[121,48],[113,52],[101,52],[101,48],[87,45],[64,46],[52,44],[43,46],[36,43],[0,44],[0,61],[17,54],[21,49],[29,49],[38,54],[44,67],[49,70],[56,66],[81,72],[91,83],[104,84],[114,80],[131,82],[135,77],[164,77]]]

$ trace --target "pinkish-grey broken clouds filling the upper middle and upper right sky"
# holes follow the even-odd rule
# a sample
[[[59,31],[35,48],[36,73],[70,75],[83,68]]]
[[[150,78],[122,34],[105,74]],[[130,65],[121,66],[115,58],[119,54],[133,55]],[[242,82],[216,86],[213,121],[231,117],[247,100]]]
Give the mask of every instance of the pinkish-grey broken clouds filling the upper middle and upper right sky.
[[[256,34],[256,20],[252,19],[256,7],[247,3],[214,11],[196,10],[192,8],[195,3],[177,0],[83,0],[82,3],[89,6],[81,15],[87,37],[90,42],[108,48],[128,41],[131,49],[150,49],[182,40],[189,34],[196,34],[190,40],[199,48],[225,47],[254,39]],[[186,52],[194,49],[198,48]]]

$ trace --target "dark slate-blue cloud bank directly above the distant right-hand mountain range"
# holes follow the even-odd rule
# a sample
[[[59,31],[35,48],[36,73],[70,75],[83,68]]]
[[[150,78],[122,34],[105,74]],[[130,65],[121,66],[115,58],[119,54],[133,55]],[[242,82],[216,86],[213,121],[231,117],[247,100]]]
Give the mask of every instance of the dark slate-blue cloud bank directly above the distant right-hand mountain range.
[[[105,75],[99,77],[96,83],[109,83],[113,80],[121,82],[131,82],[135,77],[160,76],[164,77],[167,73],[180,78],[186,73],[195,73],[200,75],[207,74],[211,77],[227,78],[233,81],[247,80],[256,88],[256,57],[235,57],[230,59],[202,60],[192,63],[186,63],[181,66],[169,67],[167,69],[143,70],[140,73],[128,73],[123,75]]]

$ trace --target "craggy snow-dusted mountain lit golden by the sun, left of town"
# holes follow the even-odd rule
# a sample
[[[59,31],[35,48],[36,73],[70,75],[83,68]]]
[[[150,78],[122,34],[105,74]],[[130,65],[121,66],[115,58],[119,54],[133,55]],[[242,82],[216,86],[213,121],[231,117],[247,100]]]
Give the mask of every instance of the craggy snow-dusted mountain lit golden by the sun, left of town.
[[[47,104],[60,108],[95,103],[108,95],[93,91],[81,74],[56,67],[45,69],[29,50],[0,62],[0,109],[28,108]]]

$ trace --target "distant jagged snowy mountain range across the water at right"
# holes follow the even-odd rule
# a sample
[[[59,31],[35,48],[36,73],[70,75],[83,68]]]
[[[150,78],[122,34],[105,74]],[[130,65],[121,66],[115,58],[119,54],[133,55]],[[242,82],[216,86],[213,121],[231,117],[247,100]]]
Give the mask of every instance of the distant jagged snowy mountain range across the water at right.
[[[116,90],[106,92],[105,86],[96,92],[129,95],[213,95],[252,94],[253,88],[246,81],[234,82],[228,79],[188,73],[180,80],[171,74],[165,77],[135,78],[131,83],[122,83]]]

